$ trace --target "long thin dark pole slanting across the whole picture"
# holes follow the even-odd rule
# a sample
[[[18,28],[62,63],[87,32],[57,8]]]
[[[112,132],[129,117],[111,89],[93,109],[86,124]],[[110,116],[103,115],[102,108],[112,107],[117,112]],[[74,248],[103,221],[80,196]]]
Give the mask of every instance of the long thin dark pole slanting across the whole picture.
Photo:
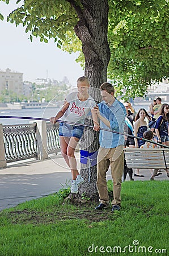
[[[17,117],[17,116],[11,116],[11,115],[0,115],[0,118],[29,119],[29,120],[38,120],[38,121],[48,121],[48,122],[50,122],[50,119],[49,119],[49,118],[41,118],[41,117]],[[56,122],[58,122],[58,123],[68,123],[69,125],[82,125],[82,126],[84,126],[84,127],[93,128],[92,125],[84,125],[84,124],[82,124],[82,123],[74,123],[74,122],[63,121],[63,120],[58,120],[58,119],[56,120]],[[105,128],[102,128],[102,127],[100,127],[100,130],[109,131],[109,132],[111,132],[111,133],[116,133],[116,134],[119,134],[119,135],[125,135],[125,136],[128,135],[128,137],[131,137],[131,138],[140,139],[140,140],[142,140],[142,141],[150,142],[150,143],[155,144],[155,145],[158,145],[158,146],[160,146],[160,147],[169,148],[168,146],[163,145],[163,144],[160,144],[160,143],[158,143],[158,142],[149,141],[149,139],[137,137],[137,136],[130,135],[130,134],[120,133],[119,131],[113,131],[113,130],[105,129]]]

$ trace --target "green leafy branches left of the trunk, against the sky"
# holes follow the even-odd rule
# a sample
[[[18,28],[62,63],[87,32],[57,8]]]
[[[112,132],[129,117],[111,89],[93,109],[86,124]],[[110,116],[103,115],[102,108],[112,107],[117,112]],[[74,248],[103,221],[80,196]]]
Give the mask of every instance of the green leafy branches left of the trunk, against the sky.
[[[7,21],[20,23],[26,27],[32,42],[33,36],[48,43],[53,38],[57,47],[61,47],[67,31],[73,31],[77,23],[74,9],[65,0],[32,1],[25,0],[23,5],[12,11]]]

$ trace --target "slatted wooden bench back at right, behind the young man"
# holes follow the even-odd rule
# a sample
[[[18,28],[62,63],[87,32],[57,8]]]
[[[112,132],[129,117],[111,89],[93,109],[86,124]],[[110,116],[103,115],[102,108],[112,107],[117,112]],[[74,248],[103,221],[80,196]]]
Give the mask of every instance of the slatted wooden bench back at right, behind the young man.
[[[126,166],[139,169],[168,169],[168,148],[124,148]]]

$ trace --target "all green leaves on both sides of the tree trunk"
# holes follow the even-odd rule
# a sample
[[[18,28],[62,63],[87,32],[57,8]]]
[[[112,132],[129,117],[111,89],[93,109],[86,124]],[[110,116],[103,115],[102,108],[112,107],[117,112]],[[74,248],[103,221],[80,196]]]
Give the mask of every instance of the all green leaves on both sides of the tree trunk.
[[[87,1],[86,5],[89,4]],[[115,84],[117,94],[125,92],[125,98],[142,97],[152,81],[168,77],[169,2],[108,0],[108,5],[111,49],[108,79]],[[53,38],[58,48],[70,53],[79,52],[76,61],[84,68],[82,43],[74,33],[78,16],[81,16],[78,10],[83,13],[82,7],[85,8],[80,0],[25,0],[22,6],[12,11],[7,21],[15,22],[16,26],[23,24],[31,42],[33,36],[45,43]],[[3,19],[2,14],[0,19]]]

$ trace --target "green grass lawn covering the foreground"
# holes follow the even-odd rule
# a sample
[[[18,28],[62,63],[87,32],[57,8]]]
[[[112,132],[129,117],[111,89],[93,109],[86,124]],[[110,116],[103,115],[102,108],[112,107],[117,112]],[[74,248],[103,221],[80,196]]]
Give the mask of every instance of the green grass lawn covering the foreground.
[[[120,212],[62,204],[69,189],[3,210],[0,255],[167,255],[168,192],[166,180],[126,181]]]

